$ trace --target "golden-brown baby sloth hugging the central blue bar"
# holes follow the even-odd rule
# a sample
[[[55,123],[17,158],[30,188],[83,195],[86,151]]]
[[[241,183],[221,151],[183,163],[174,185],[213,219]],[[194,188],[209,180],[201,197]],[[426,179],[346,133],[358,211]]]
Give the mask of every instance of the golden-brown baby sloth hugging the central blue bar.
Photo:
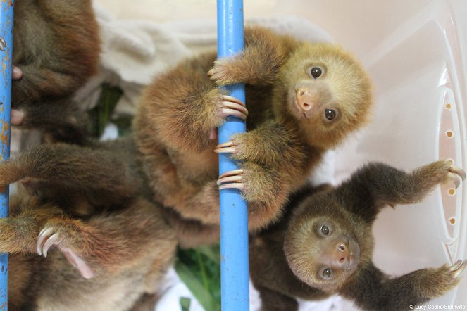
[[[218,184],[242,191],[249,228],[259,229],[280,215],[325,151],[365,125],[371,83],[338,46],[261,27],[245,29],[243,53],[215,60],[214,52],[189,59],[147,87],[135,119],[137,148],[157,201],[180,220],[216,226],[216,127],[247,119],[247,133],[216,148],[240,167]],[[237,83],[246,84],[248,110],[218,88]]]

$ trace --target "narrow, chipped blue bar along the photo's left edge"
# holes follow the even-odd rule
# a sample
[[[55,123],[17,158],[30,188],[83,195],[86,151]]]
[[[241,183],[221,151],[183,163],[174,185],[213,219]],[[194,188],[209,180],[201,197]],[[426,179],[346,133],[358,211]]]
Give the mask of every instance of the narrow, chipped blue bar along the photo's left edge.
[[[11,61],[13,59],[13,0],[0,2],[0,160],[10,157]],[[0,189],[0,217],[8,217],[6,186]],[[8,254],[0,254],[0,310],[8,310]]]

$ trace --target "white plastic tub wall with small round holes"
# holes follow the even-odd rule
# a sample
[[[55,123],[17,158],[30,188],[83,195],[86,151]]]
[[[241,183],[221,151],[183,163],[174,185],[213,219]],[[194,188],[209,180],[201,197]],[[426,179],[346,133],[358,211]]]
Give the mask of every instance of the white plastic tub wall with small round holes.
[[[408,1],[391,2],[382,25]],[[467,1],[425,1],[363,52],[377,106],[371,125],[337,153],[337,179],[369,160],[412,170],[451,158],[467,169],[466,13]],[[387,208],[374,227],[375,264],[404,274],[467,258],[466,212],[466,185],[442,186],[419,204]],[[467,277],[428,304],[466,307]]]

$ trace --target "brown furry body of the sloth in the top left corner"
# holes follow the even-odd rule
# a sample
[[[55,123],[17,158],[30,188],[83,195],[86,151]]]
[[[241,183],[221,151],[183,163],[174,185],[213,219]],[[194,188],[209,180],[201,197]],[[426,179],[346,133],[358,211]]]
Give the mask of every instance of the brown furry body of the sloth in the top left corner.
[[[101,42],[91,0],[17,0],[14,8],[13,64],[23,71],[13,80],[13,109],[20,127],[77,129],[71,96],[99,65]],[[70,135],[70,133],[68,133]]]

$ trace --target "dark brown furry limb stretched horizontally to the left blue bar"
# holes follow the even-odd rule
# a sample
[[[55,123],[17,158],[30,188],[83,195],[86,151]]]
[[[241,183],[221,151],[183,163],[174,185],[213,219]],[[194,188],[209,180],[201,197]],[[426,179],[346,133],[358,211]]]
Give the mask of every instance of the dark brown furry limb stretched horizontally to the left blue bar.
[[[20,181],[42,202],[54,202],[73,215],[125,206],[144,193],[131,139],[99,147],[43,144],[1,163],[0,186]]]

